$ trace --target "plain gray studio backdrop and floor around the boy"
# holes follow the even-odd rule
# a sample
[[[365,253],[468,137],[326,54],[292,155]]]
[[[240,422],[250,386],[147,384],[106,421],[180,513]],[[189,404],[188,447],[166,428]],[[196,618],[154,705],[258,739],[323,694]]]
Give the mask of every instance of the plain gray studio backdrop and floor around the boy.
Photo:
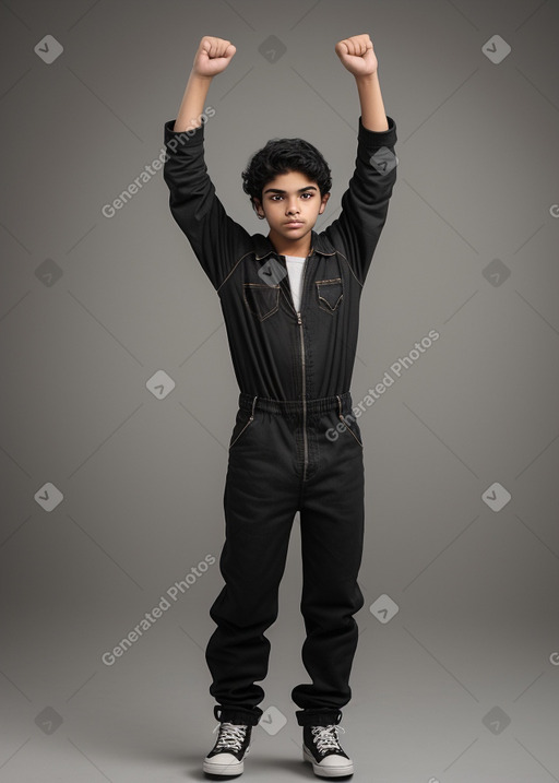
[[[238,389],[152,163],[201,36],[229,38],[222,200],[262,230],[240,170],[302,135],[328,225],[359,114],[334,45],[362,32],[400,163],[352,384],[383,391],[342,744],[356,781],[559,781],[557,0],[8,0],[0,25],[2,783],[202,780]],[[313,778],[298,524],[247,780]]]

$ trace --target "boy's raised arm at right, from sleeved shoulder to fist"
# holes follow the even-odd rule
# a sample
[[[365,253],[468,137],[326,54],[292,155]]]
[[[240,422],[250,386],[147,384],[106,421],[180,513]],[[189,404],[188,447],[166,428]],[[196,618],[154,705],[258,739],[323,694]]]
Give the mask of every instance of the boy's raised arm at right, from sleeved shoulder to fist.
[[[342,245],[354,273],[364,284],[396,180],[396,128],[384,111],[370,37],[345,38],[336,44],[335,50],[355,76],[361,116],[355,171],[342,197],[342,214],[325,234],[334,247]]]

